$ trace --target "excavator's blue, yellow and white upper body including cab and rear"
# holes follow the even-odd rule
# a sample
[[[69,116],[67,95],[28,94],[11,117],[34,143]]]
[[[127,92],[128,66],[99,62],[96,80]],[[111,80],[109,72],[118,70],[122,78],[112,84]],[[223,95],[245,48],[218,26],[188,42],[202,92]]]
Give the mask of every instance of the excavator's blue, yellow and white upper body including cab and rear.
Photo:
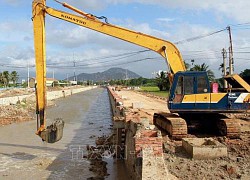
[[[170,112],[244,113],[249,110],[250,86],[239,75],[225,79],[232,88],[228,88],[229,92],[219,92],[218,84],[210,83],[206,72],[177,72],[168,100]],[[217,84],[217,90],[214,84]]]

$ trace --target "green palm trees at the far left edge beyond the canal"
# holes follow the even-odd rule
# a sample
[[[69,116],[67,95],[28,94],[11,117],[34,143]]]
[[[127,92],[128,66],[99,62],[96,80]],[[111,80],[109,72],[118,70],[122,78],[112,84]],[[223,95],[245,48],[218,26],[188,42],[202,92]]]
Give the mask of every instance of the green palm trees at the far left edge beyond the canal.
[[[15,86],[18,79],[19,79],[19,75],[16,71],[12,71],[11,73],[9,73],[9,71],[0,72],[0,85],[1,86],[9,87],[10,82],[12,82],[13,85]]]

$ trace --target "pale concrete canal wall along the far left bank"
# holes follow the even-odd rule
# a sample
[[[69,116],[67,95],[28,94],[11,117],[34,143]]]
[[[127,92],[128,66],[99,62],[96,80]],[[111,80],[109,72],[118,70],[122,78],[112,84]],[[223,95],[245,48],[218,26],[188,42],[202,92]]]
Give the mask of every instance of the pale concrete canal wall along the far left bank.
[[[54,100],[54,99],[70,96],[72,94],[87,91],[96,87],[97,86],[88,86],[88,87],[65,89],[65,90],[58,90],[58,91],[47,91],[47,100]],[[28,95],[4,97],[4,98],[0,98],[0,105],[17,104],[17,103],[20,103],[21,101],[34,99],[34,98],[35,98],[35,92],[28,94]]]

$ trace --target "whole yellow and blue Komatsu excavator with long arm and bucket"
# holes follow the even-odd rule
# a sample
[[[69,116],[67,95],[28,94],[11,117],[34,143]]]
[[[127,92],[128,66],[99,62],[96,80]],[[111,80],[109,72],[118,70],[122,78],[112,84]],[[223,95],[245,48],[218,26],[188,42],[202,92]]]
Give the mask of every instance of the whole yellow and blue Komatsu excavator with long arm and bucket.
[[[103,22],[95,15],[83,12],[66,3],[61,3],[57,0],[54,1],[76,14],[48,7],[46,6],[46,0],[34,0],[32,3],[37,78],[37,134],[44,141],[49,143],[59,141],[62,138],[64,126],[63,121],[59,120],[46,127],[46,15],[119,38],[160,54],[167,63],[168,76],[171,82],[168,100],[168,107],[171,113],[155,114],[154,121],[156,125],[160,125],[161,127],[166,126],[165,130],[173,137],[182,137],[187,134],[186,117],[197,112],[199,112],[198,114],[205,113],[209,115],[222,112],[245,112],[249,110],[250,86],[238,75],[225,77],[232,84],[231,88],[227,90],[228,92],[212,93],[207,73],[186,71],[181,53],[173,43],[115,26],[106,21]],[[226,135],[239,133],[239,128],[233,121],[228,119],[220,120],[221,123],[219,124],[220,128],[223,129],[223,133],[226,133]]]

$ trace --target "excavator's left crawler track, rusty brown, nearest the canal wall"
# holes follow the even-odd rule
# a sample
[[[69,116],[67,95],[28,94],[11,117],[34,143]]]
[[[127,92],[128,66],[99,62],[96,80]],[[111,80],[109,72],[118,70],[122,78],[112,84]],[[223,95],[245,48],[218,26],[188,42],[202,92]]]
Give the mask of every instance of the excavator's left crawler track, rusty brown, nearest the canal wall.
[[[172,139],[187,137],[186,121],[175,114],[155,113],[154,124],[169,133]]]

